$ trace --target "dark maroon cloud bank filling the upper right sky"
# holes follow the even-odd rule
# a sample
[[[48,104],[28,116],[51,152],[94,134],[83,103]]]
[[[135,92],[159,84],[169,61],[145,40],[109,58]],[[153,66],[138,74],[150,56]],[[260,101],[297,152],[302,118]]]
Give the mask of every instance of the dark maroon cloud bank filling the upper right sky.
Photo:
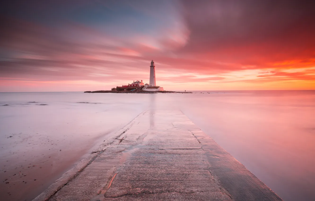
[[[314,57],[313,1],[182,1],[186,53],[242,64]],[[256,59],[255,59],[256,58]]]

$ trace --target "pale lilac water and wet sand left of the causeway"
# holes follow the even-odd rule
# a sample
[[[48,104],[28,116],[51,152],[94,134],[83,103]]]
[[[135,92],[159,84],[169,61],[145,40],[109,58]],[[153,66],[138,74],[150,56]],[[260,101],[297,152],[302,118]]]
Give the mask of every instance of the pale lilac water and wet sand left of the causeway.
[[[143,111],[95,95],[1,94],[0,200],[36,198]]]

